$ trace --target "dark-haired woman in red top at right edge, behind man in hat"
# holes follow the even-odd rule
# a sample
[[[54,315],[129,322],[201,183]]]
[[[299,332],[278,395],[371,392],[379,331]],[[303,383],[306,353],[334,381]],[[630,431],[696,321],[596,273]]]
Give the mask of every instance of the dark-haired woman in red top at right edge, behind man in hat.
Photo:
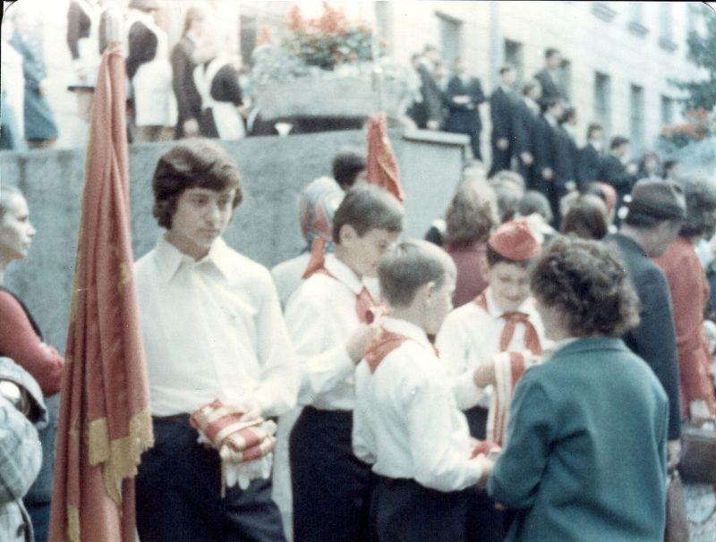
[[[695,245],[716,229],[716,182],[686,183],[686,222],[676,241],[655,261],[669,281],[677,328],[681,412],[686,419],[716,417],[711,355],[703,334],[709,284]]]

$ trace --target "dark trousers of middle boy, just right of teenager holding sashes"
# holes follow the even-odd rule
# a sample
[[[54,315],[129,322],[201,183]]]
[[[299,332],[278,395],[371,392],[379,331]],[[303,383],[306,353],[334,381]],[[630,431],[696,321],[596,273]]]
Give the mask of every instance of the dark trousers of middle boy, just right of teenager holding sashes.
[[[289,441],[294,542],[369,537],[372,475],[351,445],[353,413],[303,409]]]

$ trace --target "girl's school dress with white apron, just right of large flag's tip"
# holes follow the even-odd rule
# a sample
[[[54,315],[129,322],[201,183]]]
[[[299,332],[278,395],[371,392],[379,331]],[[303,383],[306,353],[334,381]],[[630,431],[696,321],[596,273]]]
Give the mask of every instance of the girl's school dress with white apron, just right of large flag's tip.
[[[176,97],[166,32],[149,13],[130,10],[127,15],[127,76],[132,81],[134,123],[137,126],[175,126]]]

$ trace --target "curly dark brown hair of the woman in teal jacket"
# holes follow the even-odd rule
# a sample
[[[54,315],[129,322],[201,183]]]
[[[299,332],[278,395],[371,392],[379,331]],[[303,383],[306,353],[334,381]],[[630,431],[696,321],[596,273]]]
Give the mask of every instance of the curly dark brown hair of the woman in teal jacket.
[[[559,309],[575,337],[619,337],[639,324],[639,301],[617,253],[573,236],[550,242],[532,273],[541,303]]]

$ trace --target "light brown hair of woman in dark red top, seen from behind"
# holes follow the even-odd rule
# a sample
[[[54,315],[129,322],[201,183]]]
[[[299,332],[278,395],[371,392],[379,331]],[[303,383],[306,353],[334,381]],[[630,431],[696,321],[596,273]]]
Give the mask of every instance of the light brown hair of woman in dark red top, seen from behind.
[[[490,184],[480,179],[460,184],[447,207],[445,222],[446,243],[487,241],[498,224],[497,201]]]

